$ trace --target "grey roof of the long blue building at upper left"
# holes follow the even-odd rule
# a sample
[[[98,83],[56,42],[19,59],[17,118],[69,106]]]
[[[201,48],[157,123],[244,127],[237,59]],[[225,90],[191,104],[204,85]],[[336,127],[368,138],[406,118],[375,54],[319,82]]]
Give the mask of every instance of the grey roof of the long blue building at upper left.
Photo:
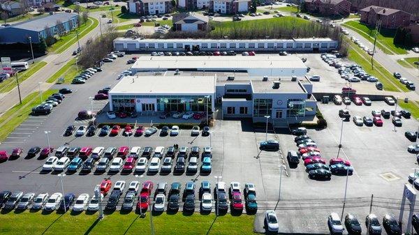
[[[45,17],[36,17],[32,20],[13,24],[10,28],[27,29],[30,31],[43,31],[45,26],[48,28],[55,25],[57,20],[61,22],[68,22],[73,17],[77,17],[76,13],[56,13],[54,15],[47,15]]]

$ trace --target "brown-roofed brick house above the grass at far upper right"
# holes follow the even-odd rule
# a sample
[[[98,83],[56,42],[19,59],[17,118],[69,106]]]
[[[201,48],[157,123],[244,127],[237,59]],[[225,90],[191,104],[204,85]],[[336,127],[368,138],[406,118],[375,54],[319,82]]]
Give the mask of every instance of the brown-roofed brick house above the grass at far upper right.
[[[376,25],[381,20],[381,28],[396,29],[399,26],[408,26],[411,23],[412,14],[403,10],[385,8],[382,6],[368,6],[360,10],[360,22]]]

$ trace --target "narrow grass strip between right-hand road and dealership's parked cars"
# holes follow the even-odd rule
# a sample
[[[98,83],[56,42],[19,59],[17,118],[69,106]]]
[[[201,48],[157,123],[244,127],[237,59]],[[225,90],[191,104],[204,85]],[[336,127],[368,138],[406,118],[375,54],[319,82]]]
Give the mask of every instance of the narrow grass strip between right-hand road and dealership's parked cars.
[[[358,63],[358,65],[362,66],[365,72],[377,77],[378,80],[383,84],[385,91],[409,91],[403,84],[397,82],[392,74],[386,70],[381,64],[374,60],[374,70],[371,68],[371,56],[364,52],[358,45],[355,43],[350,42],[351,47],[348,50],[348,59],[351,61]]]

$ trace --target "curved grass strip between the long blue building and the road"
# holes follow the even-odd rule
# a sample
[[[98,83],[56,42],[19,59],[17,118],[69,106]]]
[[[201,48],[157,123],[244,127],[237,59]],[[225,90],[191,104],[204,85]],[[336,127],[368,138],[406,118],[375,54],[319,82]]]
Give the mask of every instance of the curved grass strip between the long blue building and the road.
[[[89,33],[91,30],[96,28],[98,26],[99,21],[96,20],[93,17],[89,17],[89,20],[87,20],[86,24],[82,24],[80,26],[80,29],[76,29],[71,31],[70,33],[66,34],[65,36],[62,36],[57,43],[54,43],[50,48],[48,48],[49,52],[55,52],[57,54],[64,52],[68,49],[71,45],[74,43],[77,43],[77,32],[79,32],[79,39],[86,36],[87,33]]]

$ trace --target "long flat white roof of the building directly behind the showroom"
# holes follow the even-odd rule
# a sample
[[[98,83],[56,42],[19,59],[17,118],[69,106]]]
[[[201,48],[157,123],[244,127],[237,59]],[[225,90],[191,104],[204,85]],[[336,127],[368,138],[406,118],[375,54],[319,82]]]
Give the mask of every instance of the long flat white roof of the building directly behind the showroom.
[[[248,70],[263,68],[304,68],[300,58],[288,56],[140,56],[132,70]]]

